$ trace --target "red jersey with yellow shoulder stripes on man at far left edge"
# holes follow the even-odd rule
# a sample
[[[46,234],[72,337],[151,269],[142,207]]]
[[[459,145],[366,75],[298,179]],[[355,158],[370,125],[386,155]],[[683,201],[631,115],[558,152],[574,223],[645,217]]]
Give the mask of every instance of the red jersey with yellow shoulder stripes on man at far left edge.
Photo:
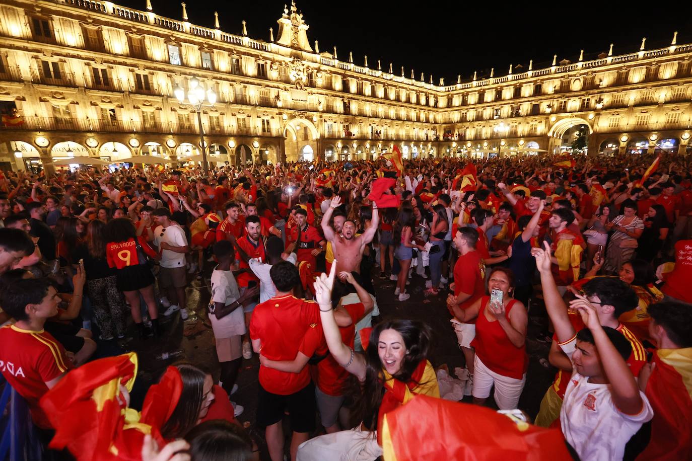
[[[22,330],[6,325],[0,328],[0,371],[29,405],[35,424],[51,429],[39,399],[48,392],[46,382],[72,368],[65,349],[44,330]]]

